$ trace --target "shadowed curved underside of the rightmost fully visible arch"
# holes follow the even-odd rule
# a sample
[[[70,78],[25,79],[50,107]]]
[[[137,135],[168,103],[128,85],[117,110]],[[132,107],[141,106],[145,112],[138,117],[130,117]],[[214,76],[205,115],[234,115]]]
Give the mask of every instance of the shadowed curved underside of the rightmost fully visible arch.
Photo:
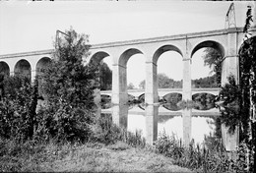
[[[192,52],[191,52],[191,55],[190,55],[190,58],[192,58],[192,56],[194,55],[194,53],[196,51],[198,51],[199,49],[201,48],[206,48],[206,47],[211,47],[211,48],[214,48],[214,49],[217,49],[218,51],[220,51],[222,57],[224,57],[224,46],[220,43],[220,42],[217,42],[215,40],[206,40],[206,41],[202,41],[200,42],[199,44],[197,44],[193,49],[192,49]]]

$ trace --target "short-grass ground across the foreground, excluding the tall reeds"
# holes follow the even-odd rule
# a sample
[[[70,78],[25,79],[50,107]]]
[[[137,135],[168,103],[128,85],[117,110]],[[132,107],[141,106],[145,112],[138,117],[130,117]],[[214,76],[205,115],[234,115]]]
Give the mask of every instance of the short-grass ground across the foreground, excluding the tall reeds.
[[[26,145],[10,148],[5,155],[2,150],[0,171],[191,172],[173,165],[171,158],[122,142],[22,147]]]

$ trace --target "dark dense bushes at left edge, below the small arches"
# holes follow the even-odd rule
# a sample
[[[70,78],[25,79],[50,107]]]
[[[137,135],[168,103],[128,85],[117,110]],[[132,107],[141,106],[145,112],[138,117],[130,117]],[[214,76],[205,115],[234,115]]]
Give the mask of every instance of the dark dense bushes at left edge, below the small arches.
[[[0,102],[0,137],[26,141],[32,139],[37,104],[37,80],[6,77]]]

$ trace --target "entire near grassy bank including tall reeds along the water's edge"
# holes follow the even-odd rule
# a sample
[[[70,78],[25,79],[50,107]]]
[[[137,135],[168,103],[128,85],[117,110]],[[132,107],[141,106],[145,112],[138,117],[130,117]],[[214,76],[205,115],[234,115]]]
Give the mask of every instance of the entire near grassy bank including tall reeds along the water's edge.
[[[207,147],[184,147],[161,134],[154,146],[140,133],[115,126],[110,117],[98,119],[86,143],[0,140],[0,171],[90,172],[242,172],[245,152],[229,160],[215,138]],[[175,166],[176,165],[176,166]],[[186,168],[184,168],[186,167]]]

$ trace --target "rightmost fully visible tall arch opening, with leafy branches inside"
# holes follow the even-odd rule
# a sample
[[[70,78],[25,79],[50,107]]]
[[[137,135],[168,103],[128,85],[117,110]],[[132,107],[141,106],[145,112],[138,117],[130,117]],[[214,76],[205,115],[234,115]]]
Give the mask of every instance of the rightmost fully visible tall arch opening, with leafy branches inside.
[[[191,53],[192,87],[221,87],[224,46],[208,40],[197,44]]]

